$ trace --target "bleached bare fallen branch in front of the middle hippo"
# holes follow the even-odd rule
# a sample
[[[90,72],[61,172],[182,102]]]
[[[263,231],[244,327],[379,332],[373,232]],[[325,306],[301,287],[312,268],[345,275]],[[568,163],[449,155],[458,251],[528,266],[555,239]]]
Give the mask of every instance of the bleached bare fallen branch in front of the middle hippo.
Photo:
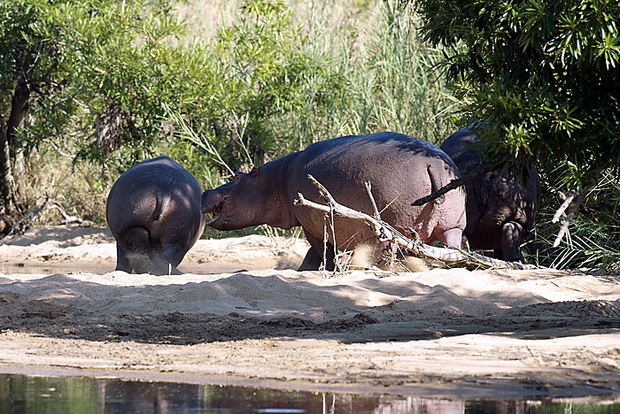
[[[444,263],[464,262],[466,264],[482,268],[537,268],[534,265],[524,265],[518,262],[506,262],[504,260],[496,259],[493,257],[486,257],[477,253],[466,252],[461,249],[438,248],[430,246],[428,244],[420,242],[418,238],[415,238],[414,240],[408,239],[406,236],[401,234],[398,230],[385,223],[384,221],[374,219],[368,216],[368,214],[353,210],[349,207],[346,207],[345,205],[337,203],[334,197],[329,194],[327,188],[323,187],[322,184],[319,181],[315,180],[312,175],[308,175],[308,180],[310,180],[314,184],[314,187],[319,189],[319,193],[327,201],[328,205],[314,203],[313,201],[307,200],[301,193],[298,193],[298,198],[293,202],[295,205],[303,205],[315,210],[324,211],[326,213],[333,211],[339,216],[345,217],[347,219],[364,221],[368,226],[370,226],[370,228],[376,234],[380,242],[395,243],[401,249],[405,249],[408,252],[413,253],[412,256],[428,257]]]

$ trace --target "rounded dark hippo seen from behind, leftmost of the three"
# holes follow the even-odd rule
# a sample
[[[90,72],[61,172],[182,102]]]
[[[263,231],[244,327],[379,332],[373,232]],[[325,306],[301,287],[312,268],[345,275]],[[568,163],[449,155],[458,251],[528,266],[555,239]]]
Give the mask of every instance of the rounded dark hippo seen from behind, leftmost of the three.
[[[114,182],[105,219],[116,239],[116,270],[178,273],[185,253],[205,229],[202,187],[169,157],[147,159]]]

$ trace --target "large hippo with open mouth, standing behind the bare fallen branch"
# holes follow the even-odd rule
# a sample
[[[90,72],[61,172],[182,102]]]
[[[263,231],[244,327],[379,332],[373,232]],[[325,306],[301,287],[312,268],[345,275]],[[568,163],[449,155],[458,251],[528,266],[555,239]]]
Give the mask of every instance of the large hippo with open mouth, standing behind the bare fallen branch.
[[[373,215],[365,189],[368,181],[381,219],[402,234],[412,237],[414,230],[422,242],[438,240],[447,246],[461,246],[465,228],[462,188],[420,207],[410,205],[412,198],[427,196],[459,176],[452,159],[429,142],[392,132],[315,142],[254,167],[250,173],[236,173],[235,180],[203,193],[202,211],[213,214],[208,225],[219,230],[261,224],[283,229],[301,226],[311,247],[298,270],[317,270],[323,257],[325,213],[294,205],[298,193],[321,203],[308,174],[322,183],[337,203]],[[336,238],[328,231],[328,270],[334,268],[334,245],[352,250],[377,243],[376,235],[363,222],[335,216]]]

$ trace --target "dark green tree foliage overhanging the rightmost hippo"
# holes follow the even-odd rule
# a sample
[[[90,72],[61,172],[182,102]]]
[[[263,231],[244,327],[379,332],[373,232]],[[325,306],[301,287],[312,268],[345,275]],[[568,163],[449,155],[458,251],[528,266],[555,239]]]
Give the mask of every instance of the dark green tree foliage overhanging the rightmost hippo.
[[[484,146],[513,164],[566,165],[567,188],[620,171],[620,3],[416,0],[422,32]],[[497,139],[500,137],[500,139]]]

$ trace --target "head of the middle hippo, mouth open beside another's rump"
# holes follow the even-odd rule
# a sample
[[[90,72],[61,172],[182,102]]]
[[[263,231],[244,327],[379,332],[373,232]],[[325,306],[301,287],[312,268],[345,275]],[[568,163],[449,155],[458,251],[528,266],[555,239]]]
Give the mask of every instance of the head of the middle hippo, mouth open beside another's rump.
[[[202,195],[202,212],[212,214],[207,224],[218,230],[238,230],[265,224],[267,193],[260,180],[259,169],[235,173],[235,180],[207,189]]]

